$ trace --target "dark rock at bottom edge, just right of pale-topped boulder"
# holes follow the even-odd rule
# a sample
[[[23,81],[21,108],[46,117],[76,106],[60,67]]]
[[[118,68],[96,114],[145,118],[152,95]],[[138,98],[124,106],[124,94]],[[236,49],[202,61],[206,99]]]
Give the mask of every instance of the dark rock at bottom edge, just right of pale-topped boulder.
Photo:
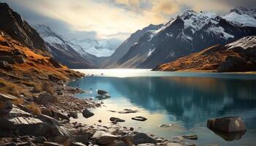
[[[144,134],[144,133],[138,133],[138,134],[135,134],[133,137],[132,137],[132,141],[135,145],[139,145],[139,144],[145,144],[145,143],[152,143],[152,144],[156,144],[157,141],[156,139],[152,139],[151,137],[148,137],[147,134]]]

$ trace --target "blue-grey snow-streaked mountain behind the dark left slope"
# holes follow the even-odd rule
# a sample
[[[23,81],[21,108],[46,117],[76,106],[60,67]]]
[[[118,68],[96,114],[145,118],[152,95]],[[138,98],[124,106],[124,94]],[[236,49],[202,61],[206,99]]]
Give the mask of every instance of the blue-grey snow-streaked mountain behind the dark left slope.
[[[91,61],[92,58],[94,58],[93,55],[89,53],[83,53],[83,55],[81,55],[76,52],[74,48],[77,47],[73,47],[74,45],[72,43],[67,42],[48,26],[37,25],[34,26],[34,28],[36,28],[42,39],[45,40],[50,53],[53,54],[53,57],[60,61],[61,64],[75,69],[95,68],[94,63]]]

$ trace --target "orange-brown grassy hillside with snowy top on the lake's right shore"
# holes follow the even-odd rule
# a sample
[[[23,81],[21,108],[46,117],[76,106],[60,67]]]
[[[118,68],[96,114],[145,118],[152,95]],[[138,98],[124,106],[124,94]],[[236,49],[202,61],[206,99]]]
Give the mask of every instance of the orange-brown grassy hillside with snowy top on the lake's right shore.
[[[214,45],[176,61],[157,66],[160,71],[249,72],[256,71],[256,36]]]

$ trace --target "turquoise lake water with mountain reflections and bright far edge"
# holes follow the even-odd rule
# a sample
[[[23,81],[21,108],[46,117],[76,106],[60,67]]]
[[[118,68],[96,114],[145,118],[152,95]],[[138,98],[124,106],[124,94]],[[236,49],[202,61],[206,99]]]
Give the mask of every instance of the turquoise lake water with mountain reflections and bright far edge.
[[[197,134],[197,145],[256,145],[256,76],[252,74],[217,74],[187,72],[151,72],[148,69],[83,69],[94,74],[70,82],[89,93],[80,98],[97,96],[97,89],[110,93],[103,100],[105,107],[92,110],[94,117],[80,119],[84,123],[108,124],[111,116],[126,120],[122,126],[170,138]],[[97,98],[94,98],[97,101]],[[100,102],[100,101],[99,101]],[[125,108],[138,110],[134,114],[118,114]],[[133,116],[148,120],[138,122]],[[208,118],[240,116],[246,123],[241,139],[227,141],[206,128]],[[176,126],[160,128],[163,123]]]

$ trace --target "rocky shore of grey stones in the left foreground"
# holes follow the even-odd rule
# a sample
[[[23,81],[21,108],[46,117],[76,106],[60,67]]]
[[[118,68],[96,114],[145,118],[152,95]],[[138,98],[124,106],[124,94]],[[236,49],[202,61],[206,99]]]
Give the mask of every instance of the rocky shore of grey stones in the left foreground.
[[[33,99],[0,94],[0,145],[186,145],[182,139],[163,139],[116,123],[104,126],[71,123],[69,118],[90,118],[90,108],[102,106],[78,99],[79,89],[59,81],[56,93],[37,93]]]

